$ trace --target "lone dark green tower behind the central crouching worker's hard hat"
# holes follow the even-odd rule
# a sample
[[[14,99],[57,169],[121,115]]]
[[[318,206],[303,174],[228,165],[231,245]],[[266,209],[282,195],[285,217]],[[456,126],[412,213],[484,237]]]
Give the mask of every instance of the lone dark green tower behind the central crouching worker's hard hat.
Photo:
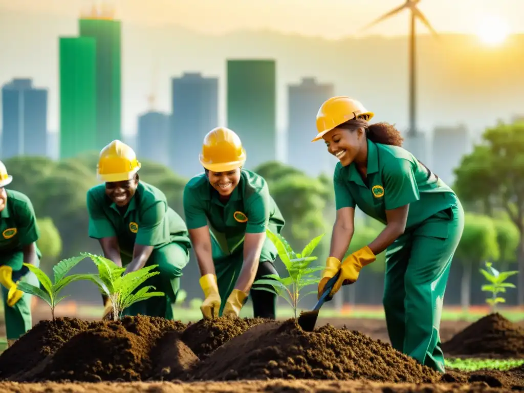
[[[242,140],[245,167],[276,159],[276,64],[227,60],[227,127]]]

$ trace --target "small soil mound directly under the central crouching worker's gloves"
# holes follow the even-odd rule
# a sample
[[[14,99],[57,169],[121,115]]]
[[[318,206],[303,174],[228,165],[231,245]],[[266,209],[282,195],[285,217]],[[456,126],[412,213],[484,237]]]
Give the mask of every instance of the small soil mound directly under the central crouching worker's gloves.
[[[239,334],[247,332],[253,326],[270,322],[262,318],[217,318],[213,320],[201,319],[189,324],[182,334],[182,341],[200,359],[216,350],[219,346],[233,339]]]

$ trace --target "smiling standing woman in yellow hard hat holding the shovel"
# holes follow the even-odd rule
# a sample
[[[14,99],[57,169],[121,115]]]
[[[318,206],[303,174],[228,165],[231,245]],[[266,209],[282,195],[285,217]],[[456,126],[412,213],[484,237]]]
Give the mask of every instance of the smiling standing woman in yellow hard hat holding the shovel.
[[[355,282],[361,268],[387,249],[384,309],[391,345],[444,372],[442,299],[464,211],[455,193],[400,147],[398,130],[369,124],[372,117],[345,96],[324,102],[316,115],[313,141],[323,138],[340,160],[333,177],[336,222],[319,294],[339,269],[332,293]],[[368,246],[343,259],[353,236],[355,206],[386,227]]]

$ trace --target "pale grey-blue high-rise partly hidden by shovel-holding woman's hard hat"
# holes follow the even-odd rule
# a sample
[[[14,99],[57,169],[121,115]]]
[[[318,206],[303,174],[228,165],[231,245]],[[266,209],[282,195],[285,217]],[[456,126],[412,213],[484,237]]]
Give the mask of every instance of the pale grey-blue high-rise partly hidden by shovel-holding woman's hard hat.
[[[312,143],[316,135],[315,115],[320,106],[335,95],[331,83],[319,84],[303,78],[288,86],[288,137],[286,162],[310,176],[332,173],[336,158],[330,157],[323,143]],[[312,159],[314,157],[314,159]]]

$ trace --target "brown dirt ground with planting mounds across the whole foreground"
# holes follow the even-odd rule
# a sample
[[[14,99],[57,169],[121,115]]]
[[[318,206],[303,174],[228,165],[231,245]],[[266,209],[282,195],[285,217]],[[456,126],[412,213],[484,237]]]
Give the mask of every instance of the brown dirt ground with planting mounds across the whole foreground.
[[[36,313],[34,316],[35,325],[40,319],[47,320],[47,315],[40,318]],[[186,327],[180,322],[140,318],[126,319],[116,325],[61,319],[54,330],[40,324],[39,328],[32,330],[33,337],[37,339],[41,335],[38,329],[45,328],[49,333],[42,336],[43,339],[27,339],[25,346],[18,344],[16,353],[4,353],[8,356],[0,357],[4,361],[0,362],[0,374],[3,374],[0,379],[4,379],[0,382],[0,393],[524,390],[524,366],[511,372],[446,370],[442,379],[440,375],[435,377],[434,372],[424,371],[412,359],[403,358],[404,355],[392,351],[389,346],[374,341],[389,343],[383,320],[320,319],[316,325],[319,333],[305,335],[286,323],[263,322],[200,321]],[[326,326],[328,324],[332,326]],[[524,327],[524,321],[518,325]],[[356,332],[335,329],[344,326]],[[455,341],[460,339],[461,335],[456,334],[468,326],[477,326],[477,338],[493,345],[506,341],[504,337],[509,337],[506,329],[514,329],[517,340],[524,333],[521,328],[494,315],[473,325],[466,321],[444,321],[441,324],[442,341],[449,341],[454,336]],[[58,334],[59,331],[63,332]],[[78,333],[81,331],[84,333]],[[471,334],[467,332],[461,333],[466,337],[459,341],[471,341]],[[239,335],[241,337],[236,337]],[[40,358],[26,348],[28,346],[40,347]],[[107,351],[107,348],[115,351]],[[492,350],[499,351],[496,345]],[[51,363],[50,354],[53,355]],[[114,363],[117,359],[118,362]],[[29,374],[23,372],[4,378],[6,374],[17,374],[15,369],[23,368],[22,363],[29,366],[31,362],[41,364],[41,368],[36,367]],[[11,368],[14,369],[9,371]],[[207,371],[200,372],[203,369]],[[192,370],[192,377],[188,378],[189,370]],[[243,380],[239,376],[243,376]],[[270,380],[264,380],[266,378]],[[67,379],[79,382],[69,383],[65,381]],[[149,382],[151,380],[163,382]],[[91,381],[100,382],[93,384]],[[431,381],[433,384],[428,384]]]

